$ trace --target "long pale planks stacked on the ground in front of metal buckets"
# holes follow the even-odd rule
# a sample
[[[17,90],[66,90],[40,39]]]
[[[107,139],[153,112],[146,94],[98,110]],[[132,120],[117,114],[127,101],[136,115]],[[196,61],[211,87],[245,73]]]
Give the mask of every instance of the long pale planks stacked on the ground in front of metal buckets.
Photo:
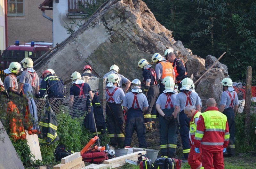
[[[108,160],[103,161],[103,164],[90,166],[89,169],[118,168],[118,167],[125,165],[125,159],[130,159],[132,161],[138,162],[138,154],[139,153],[144,155],[144,154],[146,154],[146,151],[138,151],[138,152],[124,155],[124,156],[108,159]]]

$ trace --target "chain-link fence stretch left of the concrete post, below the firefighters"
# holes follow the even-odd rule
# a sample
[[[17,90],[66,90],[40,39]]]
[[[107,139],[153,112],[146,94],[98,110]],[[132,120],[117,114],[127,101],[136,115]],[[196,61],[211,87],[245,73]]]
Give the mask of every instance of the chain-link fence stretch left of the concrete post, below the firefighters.
[[[40,121],[41,113],[44,113],[44,106],[45,103],[48,101],[52,107],[52,110],[55,112],[55,114],[58,113],[68,113],[71,115],[72,118],[80,118],[85,115],[86,113],[86,104],[91,104],[91,102],[87,99],[90,97],[88,95],[84,96],[76,96],[76,97],[66,97],[66,98],[50,98],[50,99],[34,99],[36,108],[37,108],[37,116],[38,121]],[[10,101],[8,99],[1,99],[0,103],[0,120],[4,127],[8,127],[9,125],[9,117],[6,113],[7,110],[7,103]],[[21,118],[24,119],[25,117],[25,103],[27,100],[25,97],[20,99],[13,99],[13,103],[17,106],[17,108],[20,111],[20,114],[22,114]]]

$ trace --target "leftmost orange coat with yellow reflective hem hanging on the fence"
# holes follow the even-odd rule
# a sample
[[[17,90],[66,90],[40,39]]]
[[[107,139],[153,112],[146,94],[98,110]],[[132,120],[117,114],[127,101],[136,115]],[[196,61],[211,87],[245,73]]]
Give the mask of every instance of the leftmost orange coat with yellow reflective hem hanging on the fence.
[[[16,105],[10,101],[7,103],[7,114],[10,116],[10,130],[13,139],[26,139],[22,120],[20,119],[20,111]]]

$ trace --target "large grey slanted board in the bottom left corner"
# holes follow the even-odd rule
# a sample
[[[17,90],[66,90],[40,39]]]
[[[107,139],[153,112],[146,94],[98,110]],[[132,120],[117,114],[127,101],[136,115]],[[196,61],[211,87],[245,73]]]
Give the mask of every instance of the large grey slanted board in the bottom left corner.
[[[0,168],[24,169],[20,157],[14,149],[0,120]]]

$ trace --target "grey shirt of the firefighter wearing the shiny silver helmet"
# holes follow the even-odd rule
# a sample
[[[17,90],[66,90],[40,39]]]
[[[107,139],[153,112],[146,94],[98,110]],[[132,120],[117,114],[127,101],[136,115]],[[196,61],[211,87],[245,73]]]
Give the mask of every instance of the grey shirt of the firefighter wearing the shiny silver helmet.
[[[127,107],[127,109],[129,110],[132,107],[133,99],[134,99],[134,94],[132,92],[126,93],[126,95],[124,96],[124,101],[122,105],[124,107]],[[143,93],[137,93],[137,100],[141,110],[144,107],[148,107],[147,97]],[[136,101],[134,103],[134,108],[138,108]]]

